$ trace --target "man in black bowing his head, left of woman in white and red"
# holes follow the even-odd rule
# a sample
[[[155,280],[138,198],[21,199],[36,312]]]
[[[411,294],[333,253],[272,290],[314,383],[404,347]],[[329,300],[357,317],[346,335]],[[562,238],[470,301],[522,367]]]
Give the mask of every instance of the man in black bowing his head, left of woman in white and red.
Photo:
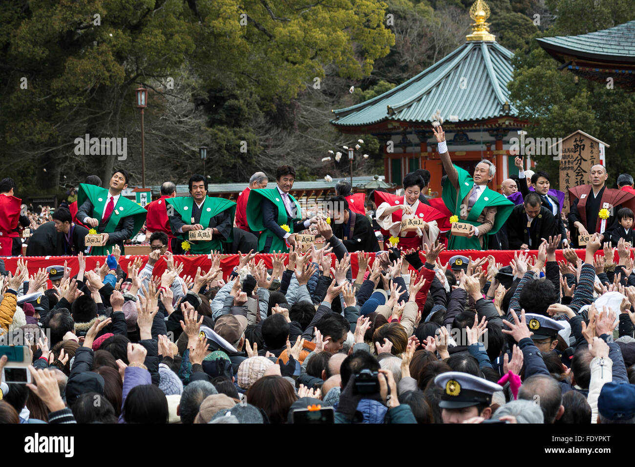
[[[349,252],[378,252],[379,243],[370,220],[365,215],[352,212],[344,196],[328,200],[328,210],[333,219],[333,235],[342,240]]]

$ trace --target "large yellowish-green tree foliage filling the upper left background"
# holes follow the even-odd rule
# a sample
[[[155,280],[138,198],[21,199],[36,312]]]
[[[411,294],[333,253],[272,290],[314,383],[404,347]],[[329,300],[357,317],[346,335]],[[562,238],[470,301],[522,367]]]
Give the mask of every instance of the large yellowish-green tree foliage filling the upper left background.
[[[394,44],[383,24],[386,4],[374,0],[17,0],[5,5],[0,157],[6,173],[27,189],[54,189],[65,173],[73,183],[88,173],[109,177],[119,164],[116,158],[74,154],[74,140],[85,133],[130,137],[129,157],[121,164],[138,175],[134,90],[140,85],[150,89],[146,139],[162,153],[151,154],[147,147],[150,160],[184,158],[187,150],[185,160],[194,163],[194,150],[208,138],[218,162],[214,179],[239,179],[261,149],[251,124],[263,112],[275,116],[277,106],[288,105],[306,81],[324,78],[326,68],[346,79],[367,76]],[[196,88],[170,86],[184,71],[197,81]],[[179,109],[177,121],[173,98],[194,104]],[[210,112],[207,122],[192,117],[201,105]],[[176,125],[173,132],[166,121]],[[240,151],[242,142],[248,152]],[[37,167],[37,177],[20,177],[15,157]],[[149,179],[163,181],[156,177],[161,168],[148,166]],[[189,170],[180,164],[173,177]]]

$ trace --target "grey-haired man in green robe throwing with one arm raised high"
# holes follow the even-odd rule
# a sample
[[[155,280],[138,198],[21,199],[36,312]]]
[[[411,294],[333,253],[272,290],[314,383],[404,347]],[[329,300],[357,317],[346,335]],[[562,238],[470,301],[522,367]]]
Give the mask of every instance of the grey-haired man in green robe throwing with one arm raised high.
[[[459,222],[472,224],[469,236],[450,234],[448,250],[485,250],[488,234],[495,234],[505,223],[514,203],[487,186],[494,178],[496,167],[483,159],[474,168],[474,177],[453,165],[441,126],[434,129],[439,143],[439,156],[448,179],[443,184],[442,198]]]

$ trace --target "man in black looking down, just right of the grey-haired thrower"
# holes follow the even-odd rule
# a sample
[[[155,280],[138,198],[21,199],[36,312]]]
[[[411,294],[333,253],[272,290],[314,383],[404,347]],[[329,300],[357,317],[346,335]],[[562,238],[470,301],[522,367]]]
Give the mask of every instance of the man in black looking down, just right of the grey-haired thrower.
[[[537,193],[529,193],[525,203],[512,210],[507,219],[511,250],[537,250],[542,238],[558,235],[556,218],[541,201]]]

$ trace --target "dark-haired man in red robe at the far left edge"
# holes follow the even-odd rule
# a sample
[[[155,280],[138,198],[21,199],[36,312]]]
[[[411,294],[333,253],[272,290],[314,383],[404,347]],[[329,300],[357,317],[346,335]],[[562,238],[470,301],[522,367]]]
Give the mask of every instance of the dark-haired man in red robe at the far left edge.
[[[13,179],[0,181],[0,256],[22,254],[18,224],[29,227],[29,218],[21,212],[22,200],[13,196]]]

